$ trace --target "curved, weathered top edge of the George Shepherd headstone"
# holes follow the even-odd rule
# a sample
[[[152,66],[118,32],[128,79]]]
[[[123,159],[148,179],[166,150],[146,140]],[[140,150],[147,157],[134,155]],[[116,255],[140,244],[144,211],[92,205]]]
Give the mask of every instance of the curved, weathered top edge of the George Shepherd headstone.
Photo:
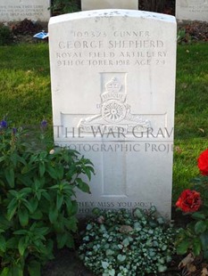
[[[71,12],[58,16],[51,17],[49,20],[49,25],[62,23],[64,21],[70,20],[80,20],[87,18],[97,18],[97,17],[131,17],[131,18],[144,18],[151,20],[162,20],[166,22],[176,23],[175,16],[158,13],[158,12],[146,12],[137,10],[123,10],[123,9],[104,9],[104,10],[93,10],[84,12]]]

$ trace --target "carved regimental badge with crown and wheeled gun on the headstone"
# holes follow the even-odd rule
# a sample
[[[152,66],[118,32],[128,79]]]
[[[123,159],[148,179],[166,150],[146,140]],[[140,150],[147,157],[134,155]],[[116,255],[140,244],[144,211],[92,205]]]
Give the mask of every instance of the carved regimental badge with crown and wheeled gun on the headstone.
[[[105,92],[101,94],[100,114],[81,118],[78,127],[87,133],[92,132],[92,127],[100,127],[106,132],[116,132],[122,127],[125,134],[132,131],[146,132],[151,127],[150,121],[130,113],[130,106],[126,102],[127,93],[122,93],[121,87],[120,80],[112,77],[105,84]]]

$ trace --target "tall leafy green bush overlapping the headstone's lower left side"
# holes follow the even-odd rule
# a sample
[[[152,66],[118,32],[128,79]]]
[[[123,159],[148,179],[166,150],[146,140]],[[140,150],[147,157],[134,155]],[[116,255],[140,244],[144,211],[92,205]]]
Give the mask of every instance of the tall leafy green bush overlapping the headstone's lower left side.
[[[46,121],[40,128],[37,139],[30,140],[27,130],[0,121],[2,276],[38,276],[54,248],[72,248],[78,223],[76,191],[90,192],[80,175],[90,180],[92,163],[75,150],[51,148],[44,139]]]

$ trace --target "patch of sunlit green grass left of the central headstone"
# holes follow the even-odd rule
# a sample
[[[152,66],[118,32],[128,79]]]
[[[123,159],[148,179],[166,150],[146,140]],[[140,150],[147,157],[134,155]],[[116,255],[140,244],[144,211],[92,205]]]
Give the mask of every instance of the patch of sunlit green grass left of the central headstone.
[[[52,121],[48,45],[0,47],[0,118],[13,124]]]

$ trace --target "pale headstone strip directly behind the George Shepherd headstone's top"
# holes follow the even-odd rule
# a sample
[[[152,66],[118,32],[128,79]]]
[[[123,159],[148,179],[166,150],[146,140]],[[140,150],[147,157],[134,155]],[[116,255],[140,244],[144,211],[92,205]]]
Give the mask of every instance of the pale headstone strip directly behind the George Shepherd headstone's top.
[[[81,0],[81,10],[128,9],[137,10],[138,0]]]

